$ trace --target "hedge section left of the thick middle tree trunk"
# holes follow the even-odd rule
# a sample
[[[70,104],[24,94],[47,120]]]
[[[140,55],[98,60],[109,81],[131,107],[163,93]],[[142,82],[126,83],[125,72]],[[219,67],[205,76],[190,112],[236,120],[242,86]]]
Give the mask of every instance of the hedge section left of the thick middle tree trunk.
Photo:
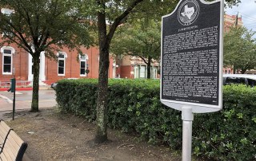
[[[96,118],[98,80],[62,80],[56,88],[56,100],[63,112],[73,112],[85,116],[87,120]]]

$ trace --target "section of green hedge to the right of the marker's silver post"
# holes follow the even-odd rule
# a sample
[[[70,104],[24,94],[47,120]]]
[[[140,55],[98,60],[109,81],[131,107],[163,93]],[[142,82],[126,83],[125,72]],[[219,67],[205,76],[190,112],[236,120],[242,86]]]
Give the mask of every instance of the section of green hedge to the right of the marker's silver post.
[[[225,86],[223,109],[194,117],[194,154],[216,160],[255,160],[256,88]]]

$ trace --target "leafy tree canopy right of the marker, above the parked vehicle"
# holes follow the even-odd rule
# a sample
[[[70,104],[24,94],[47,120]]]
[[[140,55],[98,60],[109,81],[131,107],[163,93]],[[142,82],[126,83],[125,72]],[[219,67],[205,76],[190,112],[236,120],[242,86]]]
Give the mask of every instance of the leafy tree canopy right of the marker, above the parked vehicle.
[[[224,65],[245,73],[256,67],[255,32],[245,27],[232,27],[224,36]]]

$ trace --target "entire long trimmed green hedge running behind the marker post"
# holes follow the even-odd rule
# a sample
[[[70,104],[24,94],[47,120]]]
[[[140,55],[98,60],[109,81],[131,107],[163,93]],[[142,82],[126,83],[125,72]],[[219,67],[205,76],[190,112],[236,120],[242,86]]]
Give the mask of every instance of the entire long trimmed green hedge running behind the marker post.
[[[97,86],[95,79],[59,81],[59,108],[94,121]],[[181,150],[181,112],[161,104],[159,93],[159,81],[110,80],[108,125],[122,132],[136,132],[150,143],[167,143]],[[255,88],[226,86],[222,111],[194,114],[194,155],[211,160],[255,160],[255,111]]]

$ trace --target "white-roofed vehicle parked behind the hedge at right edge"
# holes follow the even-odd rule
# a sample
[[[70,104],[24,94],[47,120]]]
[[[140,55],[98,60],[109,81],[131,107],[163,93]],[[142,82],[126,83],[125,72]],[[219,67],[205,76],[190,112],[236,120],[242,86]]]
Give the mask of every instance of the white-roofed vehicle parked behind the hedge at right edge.
[[[247,86],[256,86],[256,75],[251,74],[224,74],[223,84],[246,84]]]

